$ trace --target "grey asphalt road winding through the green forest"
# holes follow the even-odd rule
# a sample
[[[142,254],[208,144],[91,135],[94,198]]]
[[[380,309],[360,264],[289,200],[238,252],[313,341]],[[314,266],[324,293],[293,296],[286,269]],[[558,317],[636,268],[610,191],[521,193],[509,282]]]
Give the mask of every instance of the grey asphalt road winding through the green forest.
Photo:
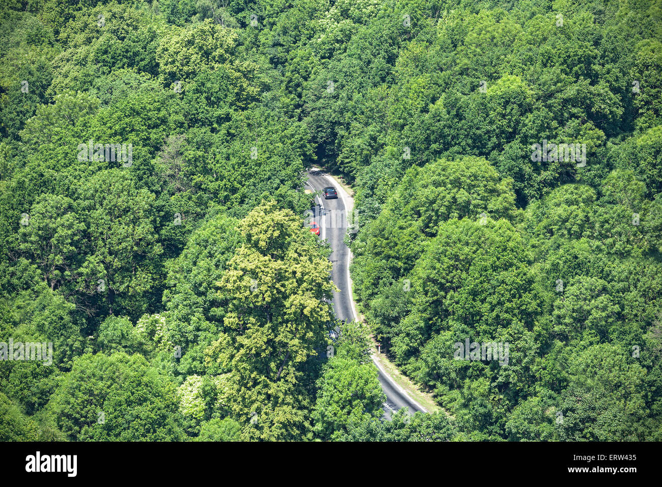
[[[352,282],[349,270],[352,252],[346,246],[344,237],[348,226],[348,212],[352,210],[354,201],[343,188],[328,176],[328,173],[321,170],[311,169],[308,171],[307,186],[314,191],[324,189],[326,186],[333,186],[338,191],[338,199],[315,198],[314,221],[320,225],[320,238],[326,239],[332,250],[330,256],[333,263],[331,278],[340,289],[340,292],[334,293],[333,298],[336,317],[353,321],[356,319],[356,310],[352,299]],[[374,358],[373,362],[375,362]],[[426,412],[423,407],[412,400],[400,386],[387,376],[377,362],[375,362],[375,366],[379,371],[379,383],[386,396],[383,408],[387,418],[390,418],[391,413],[401,409],[401,407],[408,407],[410,414],[415,411]]]

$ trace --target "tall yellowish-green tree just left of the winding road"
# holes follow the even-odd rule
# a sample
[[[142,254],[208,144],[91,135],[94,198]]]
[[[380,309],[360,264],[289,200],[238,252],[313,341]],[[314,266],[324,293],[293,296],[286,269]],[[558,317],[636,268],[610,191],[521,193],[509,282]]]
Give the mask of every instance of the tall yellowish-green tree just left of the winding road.
[[[230,407],[242,437],[310,438],[304,366],[330,321],[331,264],[301,219],[274,201],[252,210],[239,229],[245,243],[220,280],[224,331],[207,354],[230,370]]]

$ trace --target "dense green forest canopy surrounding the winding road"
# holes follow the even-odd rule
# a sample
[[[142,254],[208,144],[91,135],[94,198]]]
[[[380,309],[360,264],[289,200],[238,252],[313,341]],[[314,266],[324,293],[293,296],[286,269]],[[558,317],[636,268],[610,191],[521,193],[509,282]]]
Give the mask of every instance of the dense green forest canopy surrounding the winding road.
[[[52,345],[0,439],[662,440],[661,0],[3,0],[0,45],[0,347]],[[382,418],[371,333],[440,411]]]

